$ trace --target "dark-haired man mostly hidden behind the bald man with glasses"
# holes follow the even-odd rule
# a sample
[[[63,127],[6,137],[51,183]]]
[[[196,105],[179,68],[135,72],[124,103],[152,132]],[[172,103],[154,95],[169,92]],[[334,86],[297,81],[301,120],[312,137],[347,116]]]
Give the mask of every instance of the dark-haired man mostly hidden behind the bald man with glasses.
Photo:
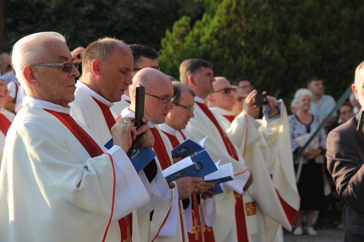
[[[155,51],[153,48],[148,47],[146,45],[128,45],[128,47],[132,50],[132,56],[134,58],[134,69],[132,70],[132,77],[143,68],[150,67],[156,70],[159,70],[159,64],[157,58],[159,57],[159,53]],[[114,106],[112,106],[111,112],[116,119],[120,112],[130,106],[130,95],[129,89],[124,91],[124,94],[121,96],[121,101],[115,102]]]

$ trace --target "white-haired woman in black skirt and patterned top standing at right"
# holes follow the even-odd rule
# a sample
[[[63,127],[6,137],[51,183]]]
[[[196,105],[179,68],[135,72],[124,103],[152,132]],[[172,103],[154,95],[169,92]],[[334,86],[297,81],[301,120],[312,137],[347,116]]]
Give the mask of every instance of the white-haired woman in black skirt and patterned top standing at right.
[[[294,155],[304,145],[298,144],[297,138],[305,135],[310,136],[307,134],[314,133],[321,123],[318,116],[309,113],[312,98],[313,94],[308,89],[296,91],[294,102],[297,104],[297,111],[288,117]],[[306,211],[305,230],[309,235],[317,235],[313,228],[314,211],[324,209],[323,154],[326,149],[326,133],[323,129],[318,133],[316,141],[318,141],[318,145],[304,151],[302,159],[295,162],[296,170],[300,170],[297,188],[301,197],[301,211]],[[302,163],[301,169],[298,169],[299,162]],[[301,235],[302,233],[302,214],[299,212],[294,235]]]

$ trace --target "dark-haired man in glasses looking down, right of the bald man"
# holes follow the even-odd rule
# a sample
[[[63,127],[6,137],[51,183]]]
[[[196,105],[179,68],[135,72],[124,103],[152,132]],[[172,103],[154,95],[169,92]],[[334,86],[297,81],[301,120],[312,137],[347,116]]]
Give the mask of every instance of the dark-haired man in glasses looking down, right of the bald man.
[[[166,144],[171,145],[170,150],[186,140],[183,130],[186,128],[188,121],[194,117],[196,96],[194,91],[181,82],[172,81],[172,84],[175,108],[169,110],[165,123],[158,124],[163,132],[162,136],[169,140]],[[177,162],[182,158],[184,157],[174,158],[173,160]],[[175,159],[177,160],[175,161]],[[202,181],[199,185],[199,191],[183,200],[186,227],[188,225],[192,227],[191,231],[188,232],[190,242],[215,241],[214,232],[212,231],[216,218],[215,198],[213,197],[215,193],[209,190],[212,187],[214,187],[214,183]]]

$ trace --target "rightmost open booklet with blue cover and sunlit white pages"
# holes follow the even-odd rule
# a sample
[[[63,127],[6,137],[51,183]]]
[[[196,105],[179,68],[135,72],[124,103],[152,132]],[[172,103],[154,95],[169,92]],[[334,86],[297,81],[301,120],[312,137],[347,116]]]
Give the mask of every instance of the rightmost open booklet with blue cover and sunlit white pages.
[[[216,194],[223,193],[224,187],[222,183],[226,181],[234,180],[234,171],[232,167],[232,163],[227,163],[224,165],[219,165],[220,161],[216,162],[216,166],[218,166],[218,170],[205,176],[206,182],[214,182],[215,188],[210,189]]]

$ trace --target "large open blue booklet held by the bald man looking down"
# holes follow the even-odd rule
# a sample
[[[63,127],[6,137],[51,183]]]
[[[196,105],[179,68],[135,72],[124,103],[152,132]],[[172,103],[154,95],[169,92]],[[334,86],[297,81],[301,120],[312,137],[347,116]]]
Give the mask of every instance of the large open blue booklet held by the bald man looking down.
[[[192,157],[187,156],[183,160],[169,166],[162,171],[162,174],[170,182],[182,177],[204,177],[215,171],[217,171],[217,166],[210,154],[203,150]]]

